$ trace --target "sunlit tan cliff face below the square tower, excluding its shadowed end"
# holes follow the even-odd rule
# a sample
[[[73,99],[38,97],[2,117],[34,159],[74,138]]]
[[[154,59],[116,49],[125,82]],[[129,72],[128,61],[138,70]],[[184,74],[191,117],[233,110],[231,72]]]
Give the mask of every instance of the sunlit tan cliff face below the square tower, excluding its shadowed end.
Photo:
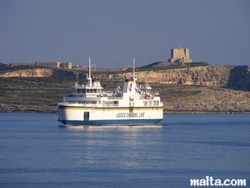
[[[205,66],[138,72],[138,81],[163,84],[226,86],[230,66]]]

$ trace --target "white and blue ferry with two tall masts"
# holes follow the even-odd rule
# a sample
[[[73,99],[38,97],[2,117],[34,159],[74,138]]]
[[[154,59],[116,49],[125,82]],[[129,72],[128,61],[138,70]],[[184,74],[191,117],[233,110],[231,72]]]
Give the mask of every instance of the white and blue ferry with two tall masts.
[[[163,103],[158,92],[148,84],[136,83],[135,60],[133,77],[112,92],[105,91],[99,80],[92,80],[91,59],[87,83],[75,82],[72,93],[58,103],[58,121],[66,126],[77,125],[152,125],[163,119]]]

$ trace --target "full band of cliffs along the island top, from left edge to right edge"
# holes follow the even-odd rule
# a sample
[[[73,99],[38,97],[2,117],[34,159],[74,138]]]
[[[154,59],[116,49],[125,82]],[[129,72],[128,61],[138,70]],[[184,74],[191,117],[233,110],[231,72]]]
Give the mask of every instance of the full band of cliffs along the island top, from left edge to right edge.
[[[0,72],[0,77],[74,77],[75,70],[51,68],[31,68]],[[124,80],[131,78],[132,72],[117,71],[93,73],[103,80]],[[148,69],[136,72],[138,82],[228,87],[250,91],[250,66],[197,66],[184,68]]]

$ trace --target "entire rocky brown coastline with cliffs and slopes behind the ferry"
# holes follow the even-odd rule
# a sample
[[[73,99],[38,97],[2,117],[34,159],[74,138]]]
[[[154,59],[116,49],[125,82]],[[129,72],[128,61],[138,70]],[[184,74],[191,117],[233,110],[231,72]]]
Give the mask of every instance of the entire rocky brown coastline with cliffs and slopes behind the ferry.
[[[0,70],[0,112],[58,113],[57,103],[78,70]],[[78,71],[79,82],[86,73]],[[93,74],[107,90],[122,86],[131,71]],[[137,70],[138,82],[159,91],[164,113],[250,113],[250,66],[197,66]]]

